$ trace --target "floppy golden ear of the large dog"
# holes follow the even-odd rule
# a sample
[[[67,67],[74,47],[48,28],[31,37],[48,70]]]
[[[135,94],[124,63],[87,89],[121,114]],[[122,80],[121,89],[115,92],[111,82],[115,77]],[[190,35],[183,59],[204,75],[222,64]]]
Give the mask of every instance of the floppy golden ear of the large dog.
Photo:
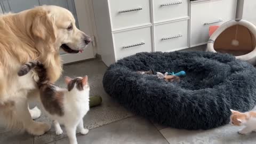
[[[31,25],[32,34],[45,42],[54,43],[56,40],[56,32],[54,25],[54,17],[50,12],[39,9],[33,13],[34,19]]]

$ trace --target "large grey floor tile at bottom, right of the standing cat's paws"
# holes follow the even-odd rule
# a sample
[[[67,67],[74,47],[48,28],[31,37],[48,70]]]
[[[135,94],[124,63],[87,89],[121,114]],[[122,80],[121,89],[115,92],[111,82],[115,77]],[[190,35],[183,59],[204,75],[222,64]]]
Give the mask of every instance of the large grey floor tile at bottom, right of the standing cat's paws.
[[[168,143],[156,127],[144,118],[134,116],[77,135],[78,143]],[[68,143],[68,138],[53,143]]]

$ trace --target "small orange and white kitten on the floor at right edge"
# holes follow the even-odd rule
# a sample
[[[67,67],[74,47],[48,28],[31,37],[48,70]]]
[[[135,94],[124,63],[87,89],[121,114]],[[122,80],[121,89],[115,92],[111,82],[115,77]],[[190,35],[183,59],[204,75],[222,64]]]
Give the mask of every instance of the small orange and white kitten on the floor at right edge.
[[[241,113],[236,110],[230,110],[232,113],[230,116],[230,124],[236,126],[245,126],[242,130],[239,130],[238,133],[247,134],[252,131],[256,131],[256,111]]]

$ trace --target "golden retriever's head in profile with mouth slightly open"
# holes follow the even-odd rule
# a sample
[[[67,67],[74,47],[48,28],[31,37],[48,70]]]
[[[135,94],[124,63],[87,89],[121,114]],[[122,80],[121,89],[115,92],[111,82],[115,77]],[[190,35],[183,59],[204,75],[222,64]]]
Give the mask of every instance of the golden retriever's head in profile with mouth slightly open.
[[[73,14],[59,6],[44,5],[26,11],[25,20],[31,20],[30,31],[38,41],[54,44],[68,53],[82,51],[91,38],[75,25]]]

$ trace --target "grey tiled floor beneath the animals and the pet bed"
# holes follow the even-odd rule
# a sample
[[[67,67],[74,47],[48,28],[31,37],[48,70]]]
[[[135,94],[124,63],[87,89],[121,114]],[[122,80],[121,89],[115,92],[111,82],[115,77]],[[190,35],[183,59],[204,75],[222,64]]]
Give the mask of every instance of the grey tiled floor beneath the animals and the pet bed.
[[[204,46],[191,50],[203,50]],[[188,50],[186,50],[188,51]],[[207,131],[177,130],[170,127],[153,124],[149,120],[136,116],[127,111],[114,99],[105,93],[102,77],[107,67],[100,60],[67,65],[63,76],[89,76],[91,95],[101,95],[101,106],[91,108],[84,118],[84,125],[90,129],[87,135],[77,134],[78,143],[255,143],[256,133],[239,135],[239,127],[226,125]],[[58,82],[63,85],[63,78]],[[35,105],[35,103],[34,103]],[[38,103],[37,103],[38,105]],[[40,106],[39,106],[40,107]],[[44,114],[37,119],[50,123]],[[2,144],[41,144],[68,143],[64,134],[55,135],[54,129],[40,137],[33,137],[27,133],[7,132],[0,127],[0,143]]]

